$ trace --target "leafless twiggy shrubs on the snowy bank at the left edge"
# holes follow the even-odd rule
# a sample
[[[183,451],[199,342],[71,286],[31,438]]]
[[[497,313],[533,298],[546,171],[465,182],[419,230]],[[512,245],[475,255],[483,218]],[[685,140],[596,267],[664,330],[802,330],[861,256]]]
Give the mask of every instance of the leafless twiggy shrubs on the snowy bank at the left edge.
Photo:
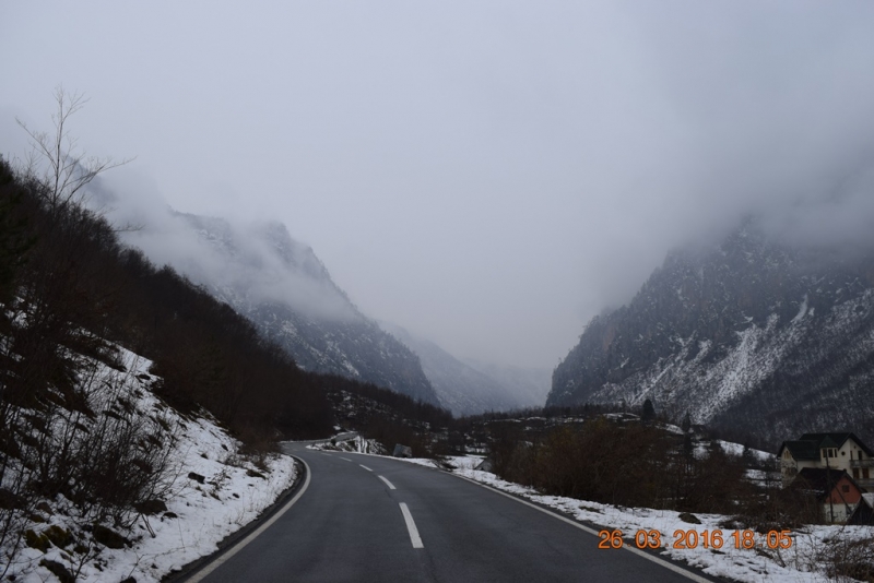
[[[4,435],[15,438],[14,449],[7,440],[0,454],[0,549],[10,559],[0,576],[23,547],[22,533],[33,528],[39,500],[62,495],[71,503],[64,512],[78,527],[70,560],[79,572],[97,552],[82,532],[107,521],[130,527],[139,517],[135,507],[168,497],[178,473],[172,457],[175,424],[137,411],[133,373],[92,358],[72,361],[79,407],[45,398],[36,408],[23,408],[0,393],[0,423]],[[135,369],[135,362],[128,366]],[[44,394],[57,394],[52,391]]]

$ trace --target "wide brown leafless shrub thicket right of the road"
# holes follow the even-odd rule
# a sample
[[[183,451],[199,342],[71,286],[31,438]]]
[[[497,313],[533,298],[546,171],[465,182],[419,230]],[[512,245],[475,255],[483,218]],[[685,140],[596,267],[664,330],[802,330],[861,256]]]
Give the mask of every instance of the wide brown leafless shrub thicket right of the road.
[[[695,456],[653,425],[603,417],[562,426],[535,441],[509,427],[493,433],[496,473],[546,493],[622,505],[731,511],[746,488],[740,461],[713,448]]]

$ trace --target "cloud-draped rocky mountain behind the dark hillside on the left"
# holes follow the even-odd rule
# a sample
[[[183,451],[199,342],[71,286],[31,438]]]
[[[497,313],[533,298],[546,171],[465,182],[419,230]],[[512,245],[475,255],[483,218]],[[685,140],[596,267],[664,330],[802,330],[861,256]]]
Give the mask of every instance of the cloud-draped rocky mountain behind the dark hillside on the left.
[[[200,249],[173,262],[249,318],[302,368],[357,379],[438,404],[418,358],[363,316],[312,249],[280,223],[235,228],[177,214]]]

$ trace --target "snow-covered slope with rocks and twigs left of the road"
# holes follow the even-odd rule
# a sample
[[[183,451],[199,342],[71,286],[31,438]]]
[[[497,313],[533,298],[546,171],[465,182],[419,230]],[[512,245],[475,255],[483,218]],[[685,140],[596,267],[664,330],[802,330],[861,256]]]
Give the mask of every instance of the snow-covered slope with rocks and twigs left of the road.
[[[142,515],[133,513],[130,527],[92,516],[83,510],[87,503],[74,503],[63,495],[3,510],[3,522],[13,521],[13,532],[24,534],[0,544],[4,580],[55,581],[66,573],[78,581],[157,582],[214,552],[216,543],[256,519],[293,484],[291,457],[245,455],[240,443],[208,414],[184,416],[164,404],[151,390],[161,379],[149,373],[147,359],[119,349],[117,365],[91,361],[86,366],[91,372],[80,376],[80,384],[87,383],[83,390],[96,417],[76,417],[81,429],[70,433],[61,415],[43,436],[75,448],[79,440],[106,426],[107,419],[117,423],[121,433],[127,427],[143,427],[150,450],[160,449],[160,457],[166,454],[153,489],[165,508],[141,508]],[[3,487],[11,487],[21,471],[26,468],[7,468]]]

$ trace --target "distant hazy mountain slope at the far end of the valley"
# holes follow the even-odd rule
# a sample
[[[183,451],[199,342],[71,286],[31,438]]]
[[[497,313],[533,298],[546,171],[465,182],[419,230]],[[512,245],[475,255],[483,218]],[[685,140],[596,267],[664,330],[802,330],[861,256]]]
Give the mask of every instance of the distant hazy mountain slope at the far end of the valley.
[[[437,397],[453,415],[509,411],[524,405],[501,383],[460,361],[435,343],[394,324],[380,322],[380,325],[418,355]]]

